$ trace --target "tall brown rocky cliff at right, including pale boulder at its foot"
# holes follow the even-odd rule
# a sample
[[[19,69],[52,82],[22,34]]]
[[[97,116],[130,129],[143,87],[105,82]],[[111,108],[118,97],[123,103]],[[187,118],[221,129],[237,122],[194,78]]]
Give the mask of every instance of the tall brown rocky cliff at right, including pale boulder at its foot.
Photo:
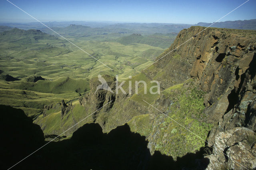
[[[165,53],[203,29],[182,30]],[[256,167],[255,35],[253,31],[206,29],[145,71],[148,77],[162,80],[164,87],[193,77],[206,92],[203,114],[214,125],[207,138],[207,145],[213,147],[213,154],[207,156],[208,169]],[[158,75],[160,71],[164,73]]]

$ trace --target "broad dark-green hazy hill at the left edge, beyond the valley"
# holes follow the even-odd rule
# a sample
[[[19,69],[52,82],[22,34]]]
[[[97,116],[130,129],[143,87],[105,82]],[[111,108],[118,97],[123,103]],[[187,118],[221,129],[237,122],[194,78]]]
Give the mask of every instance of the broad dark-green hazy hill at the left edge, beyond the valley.
[[[66,54],[70,50],[65,48],[66,42],[56,36],[51,36],[40,30],[21,30],[14,28],[0,32],[1,58],[34,58],[44,54],[55,56]]]

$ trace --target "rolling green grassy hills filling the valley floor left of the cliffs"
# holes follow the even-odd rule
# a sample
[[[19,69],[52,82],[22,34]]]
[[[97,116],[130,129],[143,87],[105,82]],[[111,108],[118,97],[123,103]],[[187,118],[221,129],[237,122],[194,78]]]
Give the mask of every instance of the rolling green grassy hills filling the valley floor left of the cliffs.
[[[92,28],[71,25],[65,29],[79,34]],[[69,39],[114,71],[57,36],[14,28],[0,33],[0,103],[33,116],[44,105],[77,100],[90,90],[89,79],[98,74],[118,74],[120,80],[136,75],[164,51],[143,43],[123,45],[76,35]]]

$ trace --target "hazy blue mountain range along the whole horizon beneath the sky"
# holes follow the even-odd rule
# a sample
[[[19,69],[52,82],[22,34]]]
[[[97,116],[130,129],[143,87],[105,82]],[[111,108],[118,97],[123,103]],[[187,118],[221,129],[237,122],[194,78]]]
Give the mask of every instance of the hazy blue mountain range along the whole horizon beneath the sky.
[[[172,24],[172,23],[107,23],[107,22],[46,22],[44,23],[47,26],[56,29],[57,32],[60,28],[65,28],[64,30],[68,31],[70,34],[80,32],[81,30],[87,30],[94,32],[94,29],[97,29],[97,32],[104,33],[104,30],[112,30],[111,32],[127,32],[139,33],[139,34],[169,34],[171,32],[180,32],[184,28],[190,28],[191,26],[204,26],[208,27],[212,23],[199,22],[198,24]],[[79,25],[79,26],[77,26]],[[21,23],[0,23],[0,26],[8,26],[11,28],[20,28],[23,30],[37,29],[42,32],[49,33],[48,28],[42,26],[42,24],[37,22],[31,22],[26,24]],[[10,30],[8,27],[0,27],[0,32]],[[240,30],[256,30],[256,19],[254,20],[237,20],[237,21],[225,21],[225,22],[216,22],[211,27],[216,28],[232,28]],[[93,29],[94,28],[94,29]],[[72,32],[70,32],[70,29]],[[64,31],[63,30],[63,31]]]

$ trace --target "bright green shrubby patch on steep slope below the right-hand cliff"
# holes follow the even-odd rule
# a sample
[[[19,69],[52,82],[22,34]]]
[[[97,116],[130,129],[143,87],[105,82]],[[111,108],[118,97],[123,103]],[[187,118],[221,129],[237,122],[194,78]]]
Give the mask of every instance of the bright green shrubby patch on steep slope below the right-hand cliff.
[[[165,112],[168,117],[158,113],[155,118],[149,136],[149,141],[154,143],[152,149],[176,159],[205,146],[204,140],[212,125],[204,123],[204,92],[190,83],[189,87],[182,87],[182,84],[174,85],[163,93],[169,96],[171,102]]]

